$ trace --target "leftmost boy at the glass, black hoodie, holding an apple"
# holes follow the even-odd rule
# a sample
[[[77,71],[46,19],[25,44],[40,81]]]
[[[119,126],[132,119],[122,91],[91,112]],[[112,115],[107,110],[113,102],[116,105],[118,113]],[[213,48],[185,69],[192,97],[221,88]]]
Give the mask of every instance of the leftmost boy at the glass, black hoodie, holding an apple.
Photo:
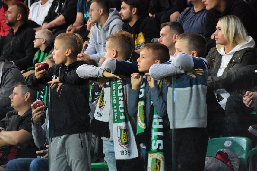
[[[52,52],[56,65],[48,71],[39,71],[40,63],[35,64],[35,74],[29,77],[27,85],[35,88],[87,64],[76,59],[82,48],[80,35],[59,34]],[[63,84],[59,92],[52,91],[50,170],[91,170],[89,81],[79,77],[74,79],[79,84],[74,81],[73,84]]]

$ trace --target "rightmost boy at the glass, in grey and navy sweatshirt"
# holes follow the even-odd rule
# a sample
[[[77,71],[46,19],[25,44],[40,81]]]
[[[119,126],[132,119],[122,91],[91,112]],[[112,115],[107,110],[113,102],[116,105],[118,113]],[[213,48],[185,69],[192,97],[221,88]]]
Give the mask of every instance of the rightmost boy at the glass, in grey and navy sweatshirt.
[[[203,56],[206,51],[206,41],[198,33],[184,33],[176,40],[176,53],[171,63],[154,64],[150,68],[150,76],[161,79],[175,74],[185,73],[189,69],[207,69],[208,64]],[[175,170],[204,170],[208,136],[207,125],[207,76],[201,75],[176,76],[176,105],[173,113],[173,85],[169,85],[163,98],[167,101],[167,114],[170,128],[174,129],[175,142],[170,139],[170,150],[174,146],[176,159]],[[166,80],[167,81],[167,80]],[[167,85],[168,86],[168,85]],[[175,125],[173,125],[175,115]]]

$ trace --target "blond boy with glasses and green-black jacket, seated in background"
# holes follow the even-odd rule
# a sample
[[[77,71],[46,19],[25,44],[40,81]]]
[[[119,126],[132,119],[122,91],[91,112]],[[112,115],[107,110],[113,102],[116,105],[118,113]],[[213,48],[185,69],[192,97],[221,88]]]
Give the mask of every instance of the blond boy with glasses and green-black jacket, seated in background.
[[[27,70],[22,70],[21,73],[25,78],[30,75],[35,74],[34,65],[38,62],[43,62],[49,52],[52,50],[51,43],[53,41],[53,33],[48,30],[38,30],[36,31],[34,48],[39,48],[33,59],[33,67],[27,68]],[[26,79],[27,81],[27,79]]]

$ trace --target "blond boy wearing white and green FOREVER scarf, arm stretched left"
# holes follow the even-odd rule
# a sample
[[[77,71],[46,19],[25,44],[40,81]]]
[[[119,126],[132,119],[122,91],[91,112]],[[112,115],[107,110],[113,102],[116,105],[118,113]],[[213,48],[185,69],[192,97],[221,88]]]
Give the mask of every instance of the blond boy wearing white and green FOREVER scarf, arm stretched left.
[[[124,61],[133,52],[133,39],[130,33],[119,30],[107,37],[106,59],[101,67],[82,65],[76,71],[60,76],[52,85],[62,81],[69,83],[73,78],[113,78],[107,79],[100,93],[94,119],[91,121],[92,133],[103,140],[105,161],[109,170],[141,170],[139,154],[132,131],[132,122],[127,114],[128,95],[131,90],[129,79],[117,75],[130,76],[138,72],[136,63]],[[116,75],[114,75],[116,74]],[[70,79],[72,78],[72,79]],[[119,79],[117,79],[119,78]],[[122,138],[123,135],[128,138]],[[115,147],[115,148],[114,148]]]

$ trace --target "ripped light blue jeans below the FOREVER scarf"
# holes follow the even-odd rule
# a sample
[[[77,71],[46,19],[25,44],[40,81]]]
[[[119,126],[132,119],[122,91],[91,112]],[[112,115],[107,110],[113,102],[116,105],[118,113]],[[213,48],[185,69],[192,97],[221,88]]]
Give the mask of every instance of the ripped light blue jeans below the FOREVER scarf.
[[[103,140],[104,161],[111,171],[117,171],[113,141]]]

